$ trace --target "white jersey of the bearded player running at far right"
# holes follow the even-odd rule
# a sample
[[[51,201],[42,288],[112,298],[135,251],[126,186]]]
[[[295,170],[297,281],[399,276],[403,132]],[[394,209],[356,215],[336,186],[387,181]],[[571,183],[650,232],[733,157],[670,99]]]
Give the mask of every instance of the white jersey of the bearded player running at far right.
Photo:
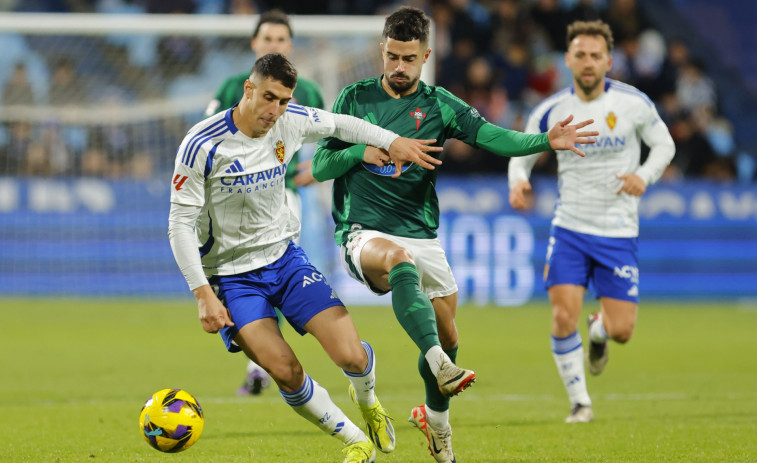
[[[557,151],[559,199],[552,224],[579,233],[606,237],[639,234],[639,197],[618,194],[623,181],[617,176],[636,173],[650,185],[657,181],[675,153],[668,128],[652,101],[635,87],[605,80],[605,91],[585,102],[572,87],[544,100],[529,117],[526,132],[546,132],[573,114],[573,121],[594,119],[596,144],[580,145],[582,158],[572,151]],[[641,141],[650,147],[640,166]],[[538,154],[512,158],[510,185],[528,179]]]

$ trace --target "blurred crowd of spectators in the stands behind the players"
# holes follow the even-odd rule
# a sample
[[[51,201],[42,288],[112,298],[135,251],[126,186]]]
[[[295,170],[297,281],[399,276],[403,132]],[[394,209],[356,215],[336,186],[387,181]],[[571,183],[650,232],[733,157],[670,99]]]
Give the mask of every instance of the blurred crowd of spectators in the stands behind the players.
[[[387,0],[0,0],[0,8],[6,11],[145,14],[256,14],[272,7],[289,14],[387,14],[399,4]],[[755,178],[753,162],[736,161],[739,149],[733,129],[721,115],[719,89],[708,76],[706,63],[692,56],[685,38],[666,39],[636,0],[410,0],[401,4],[422,8],[434,19],[431,48],[436,56],[436,83],[487,120],[514,130],[524,129],[530,110],[542,99],[570,85],[571,76],[563,65],[567,25],[574,20],[603,19],[612,27],[616,43],[610,77],[649,95],[675,140],[676,157],[665,178]],[[240,46],[247,44],[242,40]],[[157,69],[152,79],[160,82],[196,71],[203,54],[210,53],[191,37],[163,38],[156,47]],[[92,89],[77,78],[86,69],[70,57],[47,58],[51,76],[45,101],[35,95],[26,64],[19,62],[4,82],[3,106],[35,102],[65,106],[93,99]],[[181,66],[161,67],[169,61]],[[120,69],[119,76],[105,77],[132,79],[138,83],[130,87],[134,92],[162,92],[165,87],[160,82],[145,81],[149,75],[139,69]],[[148,177],[156,169],[170,168],[186,129],[182,120],[172,118],[74,133],[62,133],[54,125],[5,123],[0,136],[0,174]],[[161,153],[159,159],[156,152]],[[453,140],[446,146],[443,170],[504,173],[507,161]],[[535,172],[554,174],[555,168],[554,156],[544,155]]]

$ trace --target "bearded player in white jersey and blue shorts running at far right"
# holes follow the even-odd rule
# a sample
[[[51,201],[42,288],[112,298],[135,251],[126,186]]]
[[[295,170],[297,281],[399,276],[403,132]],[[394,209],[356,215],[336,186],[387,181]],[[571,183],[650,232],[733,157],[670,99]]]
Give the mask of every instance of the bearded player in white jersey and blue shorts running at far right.
[[[568,26],[565,64],[573,85],[547,98],[531,114],[527,131],[538,133],[567,114],[592,118],[600,137],[583,147],[586,157],[558,151],[560,197],[544,270],[552,303],[552,352],[571,403],[568,423],[591,421],[583,343],[578,333],[584,291],[591,283],[600,313],[589,316],[589,370],[599,374],[607,340],[626,343],[639,302],[639,197],[673,159],[675,146],[654,104],[636,88],[605,76],[612,66],[612,31],[602,21]],[[641,144],[650,147],[640,165]],[[510,205],[527,207],[528,181],[538,155],[510,160]]]

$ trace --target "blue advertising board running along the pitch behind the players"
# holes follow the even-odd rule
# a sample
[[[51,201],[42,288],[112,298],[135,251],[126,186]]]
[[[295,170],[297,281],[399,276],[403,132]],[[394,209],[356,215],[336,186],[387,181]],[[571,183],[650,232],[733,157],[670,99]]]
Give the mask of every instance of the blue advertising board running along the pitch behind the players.
[[[513,211],[502,177],[439,179],[440,239],[460,300],[546,297],[542,269],[554,179]],[[303,247],[351,304],[388,304],[347,277],[331,219],[303,190]],[[0,178],[0,295],[188,295],[167,239],[168,182]],[[757,297],[757,188],[655,185],[641,201],[642,298]]]

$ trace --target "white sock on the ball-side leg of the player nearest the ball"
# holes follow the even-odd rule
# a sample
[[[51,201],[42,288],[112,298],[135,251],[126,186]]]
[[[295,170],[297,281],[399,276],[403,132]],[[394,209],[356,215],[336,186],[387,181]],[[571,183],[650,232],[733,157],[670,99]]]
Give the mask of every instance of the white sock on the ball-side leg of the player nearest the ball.
[[[294,392],[279,390],[284,401],[297,414],[318,426],[321,431],[336,437],[345,445],[368,441],[342,410],[331,401],[329,393],[310,376],[305,375],[305,384]]]

